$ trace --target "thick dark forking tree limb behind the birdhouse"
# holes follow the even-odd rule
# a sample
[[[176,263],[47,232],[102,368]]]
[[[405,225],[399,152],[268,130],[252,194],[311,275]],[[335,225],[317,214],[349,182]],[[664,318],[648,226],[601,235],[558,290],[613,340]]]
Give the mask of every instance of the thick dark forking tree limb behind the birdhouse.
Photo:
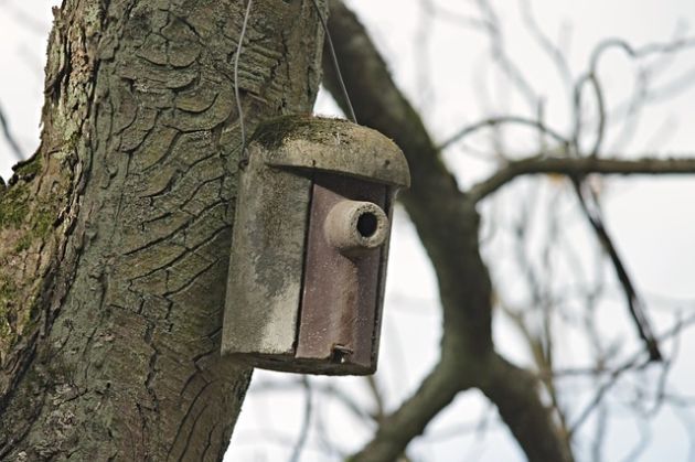
[[[498,406],[511,428],[523,429],[528,418],[534,423],[536,418],[545,419],[533,438],[517,437],[530,460],[570,461],[564,436],[539,397],[528,397],[537,378],[493,351],[492,288],[480,257],[475,202],[459,190],[440,161],[423,120],[392,80],[355,15],[338,0],[330,1],[330,11],[329,29],[357,119],[393,138],[408,159],[411,187],[400,198],[437,272],[445,319],[440,362],[419,391],[385,419],[357,460],[393,461],[458,391],[477,386],[487,389],[495,404],[502,402]],[[327,58],[323,71],[324,85],[345,108]],[[530,385],[528,390],[505,395],[500,380]],[[538,441],[543,443],[534,447]]]

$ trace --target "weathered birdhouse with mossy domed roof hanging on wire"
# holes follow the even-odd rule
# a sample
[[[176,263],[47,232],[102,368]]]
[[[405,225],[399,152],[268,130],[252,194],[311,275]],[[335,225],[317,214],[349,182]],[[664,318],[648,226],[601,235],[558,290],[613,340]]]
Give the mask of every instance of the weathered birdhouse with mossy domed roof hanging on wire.
[[[236,202],[222,353],[255,367],[376,370],[396,144],[345,120],[288,116],[248,143]]]

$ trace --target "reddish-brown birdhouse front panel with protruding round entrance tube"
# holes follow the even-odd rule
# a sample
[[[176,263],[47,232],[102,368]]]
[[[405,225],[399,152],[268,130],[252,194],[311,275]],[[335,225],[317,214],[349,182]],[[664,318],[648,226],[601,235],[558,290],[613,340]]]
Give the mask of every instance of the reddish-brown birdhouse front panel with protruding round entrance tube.
[[[322,365],[327,374],[334,369],[366,374],[376,368],[388,223],[386,214],[360,209],[361,203],[388,211],[386,186],[335,174],[316,175],[296,356]],[[328,222],[336,207],[338,225]],[[353,232],[354,244],[331,241],[331,225]],[[359,245],[361,237],[381,233],[379,226],[386,233],[377,245]]]

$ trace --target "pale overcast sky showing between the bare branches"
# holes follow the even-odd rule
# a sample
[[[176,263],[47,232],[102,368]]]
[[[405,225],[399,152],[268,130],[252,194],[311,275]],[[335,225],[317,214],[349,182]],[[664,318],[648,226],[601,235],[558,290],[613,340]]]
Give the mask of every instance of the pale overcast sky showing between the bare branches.
[[[0,107],[10,122],[10,129],[24,153],[29,155],[39,142],[39,120],[45,42],[50,30],[50,6],[55,2],[35,0],[0,0]],[[471,1],[435,2],[460,15],[474,15]],[[424,22],[417,1],[353,0],[356,9],[385,54],[399,86],[426,116],[436,140],[443,140],[457,128],[489,115],[491,108],[505,107],[512,112],[527,114],[521,97],[500,90],[494,68],[484,65],[489,53],[487,39],[480,31],[462,29],[449,20]],[[509,52],[522,63],[534,88],[546,95],[546,117],[558,130],[571,122],[567,98],[563,97],[563,83],[552,72],[547,57],[533,46],[522,32],[523,21],[517,2],[498,2],[503,23],[507,28]],[[504,4],[504,8],[502,7]],[[635,45],[664,42],[674,34],[695,35],[695,2],[686,0],[534,0],[533,10],[548,36],[564,43],[573,73],[586,67],[590,52],[598,41],[607,36],[626,39]],[[455,18],[455,14],[449,14]],[[425,45],[423,45],[425,44]],[[425,47],[423,47],[425,46]],[[695,68],[695,54],[669,63],[666,77],[688,75]],[[618,52],[607,54],[601,62],[600,76],[606,85],[609,104],[617,104],[629,95],[632,85],[632,64]],[[695,79],[695,74],[689,74]],[[429,77],[427,77],[429,76]],[[427,77],[427,78],[426,78]],[[335,114],[327,95],[319,98],[317,110]],[[654,152],[695,153],[695,89],[678,93],[675,98],[656,104],[649,117],[640,120],[618,154]],[[618,135],[614,141],[618,143]],[[610,141],[610,140],[609,140]],[[520,152],[532,141],[518,139]],[[652,150],[645,152],[645,150]],[[490,171],[490,163],[451,149],[445,157],[463,185],[479,180]],[[10,176],[14,159],[4,138],[0,137],[0,175]],[[695,300],[695,189],[693,179],[678,180],[619,180],[612,183],[612,193],[605,203],[610,230],[618,237],[619,247],[640,289],[653,296],[682,300],[684,310],[693,310]],[[515,189],[513,189],[515,187]],[[523,186],[510,186],[509,193],[518,194]],[[547,192],[546,192],[547,193]],[[547,193],[553,194],[553,192]],[[387,405],[394,409],[419,384],[435,364],[440,336],[440,313],[436,281],[431,267],[419,245],[415,230],[402,209],[396,211],[393,235],[383,345],[377,382],[385,390]],[[487,212],[487,209],[483,209]],[[483,214],[483,219],[485,219]],[[483,227],[485,224],[483,224]],[[590,246],[590,234],[581,223],[568,223],[568,235],[579,248]],[[492,258],[498,250],[487,250]],[[505,276],[510,279],[514,275]],[[510,281],[511,282],[511,281]],[[614,308],[614,305],[613,305]],[[622,310],[622,309],[620,309]],[[609,331],[626,329],[630,335],[624,311],[614,310],[606,315]],[[666,325],[657,314],[655,322]],[[695,353],[693,335],[681,344],[682,355]],[[520,363],[527,353],[520,348],[515,334],[503,323],[495,324],[499,348]],[[573,356],[581,359],[581,353]],[[687,361],[672,373],[672,382],[681,391],[695,389],[695,377]],[[254,386],[268,380],[296,380],[296,376],[256,373]],[[338,386],[354,393],[355,399],[370,405],[367,389],[359,378],[312,379],[320,385]],[[226,460],[286,460],[288,448],[301,423],[304,397],[301,387],[274,394],[252,391],[233,438]],[[694,391],[695,393],[695,391]],[[372,434],[336,401],[317,398],[316,419],[324,419],[328,438],[344,451],[354,451]],[[484,440],[475,442],[479,433],[471,432],[480,417],[488,413],[488,405],[477,391],[461,395],[428,427],[426,438],[416,440],[409,448],[415,460],[424,461],[515,461],[523,460],[507,430],[491,422]],[[650,447],[640,461],[686,461],[688,438],[695,423],[686,425],[678,411],[664,409],[651,423]],[[692,421],[692,420],[691,420]],[[610,441],[606,460],[621,460],[640,441],[642,428],[626,415],[610,427]],[[320,434],[312,432],[304,452],[304,461],[324,461]],[[334,460],[338,454],[334,454]],[[588,460],[585,456],[581,460]]]

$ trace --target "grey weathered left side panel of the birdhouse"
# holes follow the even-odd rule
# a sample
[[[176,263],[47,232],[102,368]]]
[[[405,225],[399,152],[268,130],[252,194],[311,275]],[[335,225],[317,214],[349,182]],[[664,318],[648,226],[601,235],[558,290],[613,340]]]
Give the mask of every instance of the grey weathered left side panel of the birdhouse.
[[[311,181],[254,158],[240,179],[222,351],[293,354]]]

